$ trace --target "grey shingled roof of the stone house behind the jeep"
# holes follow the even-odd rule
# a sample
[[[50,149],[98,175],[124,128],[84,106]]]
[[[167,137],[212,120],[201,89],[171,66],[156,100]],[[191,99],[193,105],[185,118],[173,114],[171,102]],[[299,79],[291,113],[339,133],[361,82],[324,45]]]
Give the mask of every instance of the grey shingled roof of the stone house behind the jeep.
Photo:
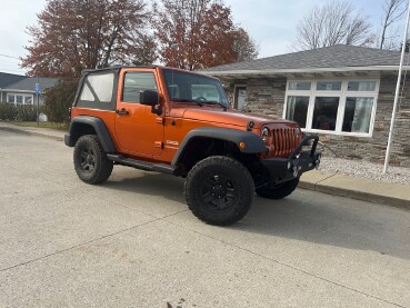
[[[234,71],[299,71],[334,68],[392,68],[399,67],[400,52],[366,48],[358,46],[337,44],[332,47],[292,52],[248,62],[237,62],[204,69],[210,74],[232,73]],[[392,69],[393,70],[393,69]]]

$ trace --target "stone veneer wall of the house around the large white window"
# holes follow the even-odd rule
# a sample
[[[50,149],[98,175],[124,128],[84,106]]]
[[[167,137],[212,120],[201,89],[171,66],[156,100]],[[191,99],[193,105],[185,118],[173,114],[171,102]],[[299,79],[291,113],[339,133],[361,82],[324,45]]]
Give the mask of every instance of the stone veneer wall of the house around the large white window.
[[[394,100],[397,76],[383,74],[380,80],[377,112],[371,138],[319,133],[320,140],[338,157],[366,159],[383,163],[389,137],[390,119]],[[238,82],[239,83],[239,82]],[[248,79],[247,107],[251,112],[282,117],[286,78]],[[231,91],[233,88],[230,89]],[[390,163],[410,167],[410,80],[406,82],[403,98],[397,112]],[[324,148],[326,152],[327,151]]]

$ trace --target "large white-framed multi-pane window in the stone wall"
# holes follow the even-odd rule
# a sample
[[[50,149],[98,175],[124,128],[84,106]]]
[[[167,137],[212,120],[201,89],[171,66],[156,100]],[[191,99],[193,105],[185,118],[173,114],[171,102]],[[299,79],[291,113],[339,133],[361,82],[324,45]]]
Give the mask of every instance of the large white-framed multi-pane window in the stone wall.
[[[283,117],[306,131],[370,137],[378,80],[289,80]]]

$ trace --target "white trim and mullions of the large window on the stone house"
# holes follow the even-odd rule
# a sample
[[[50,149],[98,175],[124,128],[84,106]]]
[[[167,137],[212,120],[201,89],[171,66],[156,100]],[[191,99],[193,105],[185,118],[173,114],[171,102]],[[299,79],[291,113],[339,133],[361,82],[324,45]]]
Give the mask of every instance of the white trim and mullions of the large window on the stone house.
[[[310,90],[288,90],[290,82],[311,82]],[[341,90],[338,91],[327,91],[327,90],[317,90],[318,82],[321,81],[341,81]],[[348,91],[349,81],[374,81],[376,88],[374,91]],[[373,136],[374,128],[374,119],[376,119],[376,110],[377,102],[379,98],[379,88],[380,88],[380,79],[376,78],[320,78],[320,79],[289,79],[287,81],[287,90],[284,96],[284,105],[283,105],[283,113],[282,118],[286,119],[287,108],[288,108],[288,97],[309,97],[309,106],[308,106],[308,115],[307,115],[307,125],[302,130],[306,132],[316,132],[316,133],[326,133],[326,135],[338,135],[338,136],[351,136],[351,137],[368,137],[371,138]],[[336,130],[321,130],[321,129],[312,129],[312,119],[314,111],[314,99],[316,97],[339,97],[339,108],[337,113],[337,123]],[[348,132],[342,131],[343,125],[343,113],[346,108],[346,99],[347,97],[364,97],[364,98],[373,98],[373,108],[370,116],[370,126],[369,133],[363,132]]]

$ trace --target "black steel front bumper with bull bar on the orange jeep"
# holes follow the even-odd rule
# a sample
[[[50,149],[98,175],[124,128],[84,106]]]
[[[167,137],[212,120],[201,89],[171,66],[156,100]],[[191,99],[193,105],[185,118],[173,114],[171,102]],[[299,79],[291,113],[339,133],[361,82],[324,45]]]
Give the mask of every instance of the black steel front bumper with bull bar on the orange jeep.
[[[269,171],[268,186],[300,177],[303,172],[319,167],[321,153],[317,152],[318,136],[304,136],[288,158],[262,159],[261,163]],[[303,146],[311,146],[309,151],[302,151]]]

